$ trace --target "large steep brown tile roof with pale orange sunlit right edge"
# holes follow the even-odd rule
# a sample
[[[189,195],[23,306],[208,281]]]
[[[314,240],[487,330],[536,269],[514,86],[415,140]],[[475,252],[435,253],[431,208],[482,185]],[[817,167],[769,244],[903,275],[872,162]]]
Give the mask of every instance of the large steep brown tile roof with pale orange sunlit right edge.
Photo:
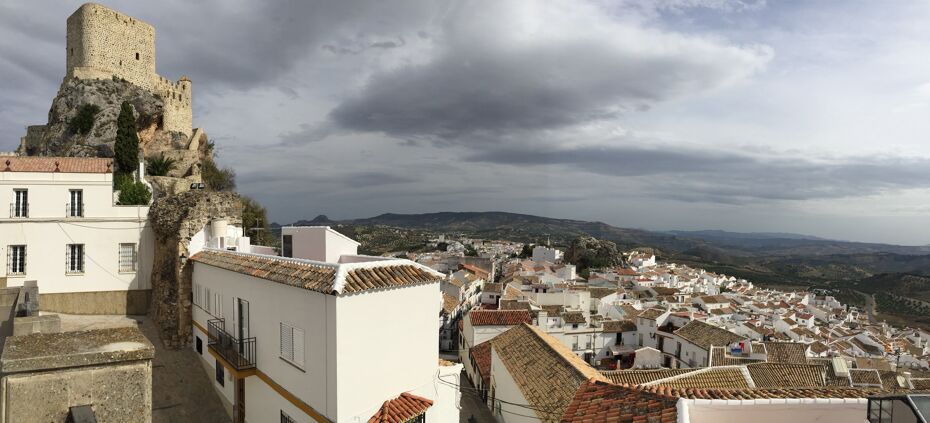
[[[607,382],[565,344],[535,326],[520,325],[494,338],[496,356],[543,422],[557,422],[578,387],[590,379]]]

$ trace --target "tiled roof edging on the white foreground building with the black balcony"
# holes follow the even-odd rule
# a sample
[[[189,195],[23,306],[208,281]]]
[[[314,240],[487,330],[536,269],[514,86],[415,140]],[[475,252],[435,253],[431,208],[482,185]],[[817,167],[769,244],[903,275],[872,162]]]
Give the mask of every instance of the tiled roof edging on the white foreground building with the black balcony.
[[[332,264],[221,250],[203,250],[194,262],[324,294],[349,294],[438,282],[442,274],[409,260]]]

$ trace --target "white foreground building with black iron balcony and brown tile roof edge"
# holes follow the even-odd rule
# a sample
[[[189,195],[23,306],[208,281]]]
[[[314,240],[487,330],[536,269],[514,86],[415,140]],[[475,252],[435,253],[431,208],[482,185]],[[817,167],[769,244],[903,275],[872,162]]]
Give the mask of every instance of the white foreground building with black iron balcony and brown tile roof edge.
[[[306,251],[333,257],[330,246]],[[461,366],[441,365],[437,350],[442,274],[349,254],[205,249],[190,260],[193,348],[245,421],[458,420]]]

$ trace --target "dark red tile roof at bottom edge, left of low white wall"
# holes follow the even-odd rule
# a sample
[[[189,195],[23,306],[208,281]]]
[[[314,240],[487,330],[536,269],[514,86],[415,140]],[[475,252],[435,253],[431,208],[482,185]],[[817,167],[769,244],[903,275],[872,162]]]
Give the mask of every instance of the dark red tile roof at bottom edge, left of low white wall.
[[[562,415],[562,423],[674,423],[677,420],[674,398],[598,381],[582,383]]]

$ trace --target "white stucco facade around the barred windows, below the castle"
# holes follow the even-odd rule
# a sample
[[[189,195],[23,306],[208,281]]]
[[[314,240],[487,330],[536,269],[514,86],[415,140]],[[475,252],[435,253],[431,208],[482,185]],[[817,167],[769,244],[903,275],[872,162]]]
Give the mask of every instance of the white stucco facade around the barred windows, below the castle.
[[[28,217],[12,217],[14,190],[28,190]],[[72,189],[82,217],[68,217]],[[9,286],[36,280],[46,293],[150,289],[153,235],[146,206],[114,206],[110,174],[0,172],[0,276]],[[119,244],[134,243],[135,272],[119,271]],[[66,246],[84,244],[84,272],[66,274]],[[26,245],[25,275],[7,275],[10,245]]]

